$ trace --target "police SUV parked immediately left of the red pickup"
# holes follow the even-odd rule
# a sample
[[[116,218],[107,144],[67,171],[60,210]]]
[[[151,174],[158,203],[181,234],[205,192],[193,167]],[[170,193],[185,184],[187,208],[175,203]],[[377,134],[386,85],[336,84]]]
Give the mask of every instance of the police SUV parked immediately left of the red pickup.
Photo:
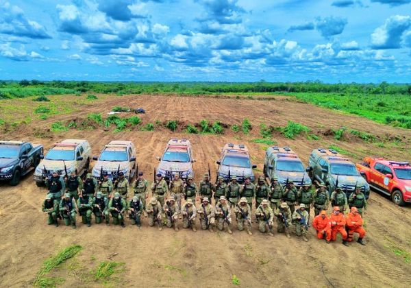
[[[349,197],[356,187],[360,187],[366,199],[369,198],[369,184],[357,171],[356,165],[335,150],[323,148],[312,150],[308,165],[312,181],[324,183],[329,194],[338,185]]]

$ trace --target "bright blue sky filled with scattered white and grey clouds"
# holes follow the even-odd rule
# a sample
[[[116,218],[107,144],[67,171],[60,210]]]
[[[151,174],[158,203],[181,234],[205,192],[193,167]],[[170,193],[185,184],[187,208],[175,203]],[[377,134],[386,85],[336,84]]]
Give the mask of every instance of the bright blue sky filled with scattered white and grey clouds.
[[[411,82],[411,0],[0,0],[0,80]]]

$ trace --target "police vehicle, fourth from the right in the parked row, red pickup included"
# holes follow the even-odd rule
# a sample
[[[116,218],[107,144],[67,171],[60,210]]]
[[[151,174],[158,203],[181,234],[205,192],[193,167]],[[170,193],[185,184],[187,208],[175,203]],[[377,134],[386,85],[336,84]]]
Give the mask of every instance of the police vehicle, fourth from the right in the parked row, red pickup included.
[[[247,176],[251,182],[256,180],[253,168],[257,168],[257,165],[251,165],[249,149],[243,144],[225,144],[216,163],[219,165],[218,176],[225,181],[229,181],[229,176],[236,176],[239,183],[244,182]]]

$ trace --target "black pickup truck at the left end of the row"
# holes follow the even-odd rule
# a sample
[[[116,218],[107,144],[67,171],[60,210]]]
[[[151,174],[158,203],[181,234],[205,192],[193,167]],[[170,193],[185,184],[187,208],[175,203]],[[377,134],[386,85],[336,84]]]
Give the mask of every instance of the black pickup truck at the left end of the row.
[[[42,145],[24,141],[0,141],[0,180],[15,186],[21,176],[35,169],[43,154]]]

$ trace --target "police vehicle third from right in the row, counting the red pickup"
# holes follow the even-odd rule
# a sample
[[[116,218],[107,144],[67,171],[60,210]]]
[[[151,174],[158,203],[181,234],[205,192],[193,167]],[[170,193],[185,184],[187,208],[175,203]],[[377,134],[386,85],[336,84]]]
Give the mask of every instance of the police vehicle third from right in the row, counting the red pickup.
[[[264,174],[270,179],[278,178],[280,184],[293,182],[296,187],[303,183],[311,184],[311,179],[303,163],[290,147],[273,146],[266,149],[264,157]]]

